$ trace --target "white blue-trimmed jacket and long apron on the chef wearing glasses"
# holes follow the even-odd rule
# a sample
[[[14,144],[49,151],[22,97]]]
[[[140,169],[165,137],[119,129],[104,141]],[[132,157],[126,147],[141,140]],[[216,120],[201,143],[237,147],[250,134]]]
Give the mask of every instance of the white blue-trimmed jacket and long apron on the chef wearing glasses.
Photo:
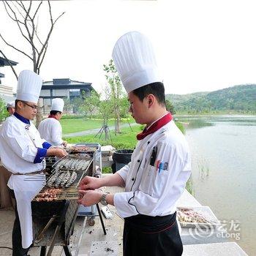
[[[34,124],[18,113],[7,118],[1,127],[0,156],[4,167],[11,173],[34,173],[45,168],[42,157],[51,145],[40,138]],[[35,177],[35,181],[26,178]],[[45,175],[13,175],[8,187],[15,192],[23,248],[28,248],[33,241],[31,200],[45,184]]]

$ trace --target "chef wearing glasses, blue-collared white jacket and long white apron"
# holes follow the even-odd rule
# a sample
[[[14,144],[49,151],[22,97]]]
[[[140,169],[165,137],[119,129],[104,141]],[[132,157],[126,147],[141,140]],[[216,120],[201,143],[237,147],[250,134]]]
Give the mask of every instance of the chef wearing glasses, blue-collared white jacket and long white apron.
[[[8,181],[15,197],[15,222],[12,230],[12,255],[23,256],[32,244],[31,200],[44,186],[45,169],[42,158],[64,157],[67,152],[51,148],[40,138],[31,120],[37,114],[37,101],[42,87],[39,75],[23,70],[18,77],[15,113],[4,121],[0,135],[0,155],[4,167],[12,173]],[[26,181],[26,178],[35,178]]]

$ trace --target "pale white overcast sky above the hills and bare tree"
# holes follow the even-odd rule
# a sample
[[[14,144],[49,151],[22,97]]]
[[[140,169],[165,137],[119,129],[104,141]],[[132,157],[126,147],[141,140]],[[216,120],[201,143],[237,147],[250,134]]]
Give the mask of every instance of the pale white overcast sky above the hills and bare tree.
[[[45,2],[46,4],[46,2]],[[167,94],[215,91],[256,83],[256,1],[53,1],[56,23],[40,75],[43,80],[70,78],[105,86],[116,40],[128,31],[146,34],[154,46]],[[42,33],[48,12],[39,16]],[[19,48],[29,50],[0,3],[0,31]],[[15,67],[33,69],[31,62],[0,40]],[[10,67],[0,67],[5,85],[16,88]]]

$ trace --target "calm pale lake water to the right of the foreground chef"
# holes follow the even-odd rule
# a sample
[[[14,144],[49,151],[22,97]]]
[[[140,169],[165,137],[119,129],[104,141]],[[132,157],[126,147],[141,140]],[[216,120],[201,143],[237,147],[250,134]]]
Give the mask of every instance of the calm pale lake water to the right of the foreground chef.
[[[256,255],[256,116],[176,117],[192,153],[194,196]]]

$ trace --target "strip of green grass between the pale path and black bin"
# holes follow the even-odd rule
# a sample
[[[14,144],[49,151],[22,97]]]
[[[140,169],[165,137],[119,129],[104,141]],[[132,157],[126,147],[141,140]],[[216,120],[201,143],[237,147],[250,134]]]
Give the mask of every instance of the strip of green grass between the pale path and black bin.
[[[99,143],[101,146],[112,145],[116,149],[121,148],[135,148],[137,139],[136,135],[141,132],[141,125],[136,125],[132,127],[132,131],[129,127],[121,128],[121,134],[115,135],[114,131],[110,131],[111,140],[104,140],[105,134],[102,134],[102,137],[99,139],[94,138],[94,135],[84,135],[79,137],[65,138],[68,143]]]

